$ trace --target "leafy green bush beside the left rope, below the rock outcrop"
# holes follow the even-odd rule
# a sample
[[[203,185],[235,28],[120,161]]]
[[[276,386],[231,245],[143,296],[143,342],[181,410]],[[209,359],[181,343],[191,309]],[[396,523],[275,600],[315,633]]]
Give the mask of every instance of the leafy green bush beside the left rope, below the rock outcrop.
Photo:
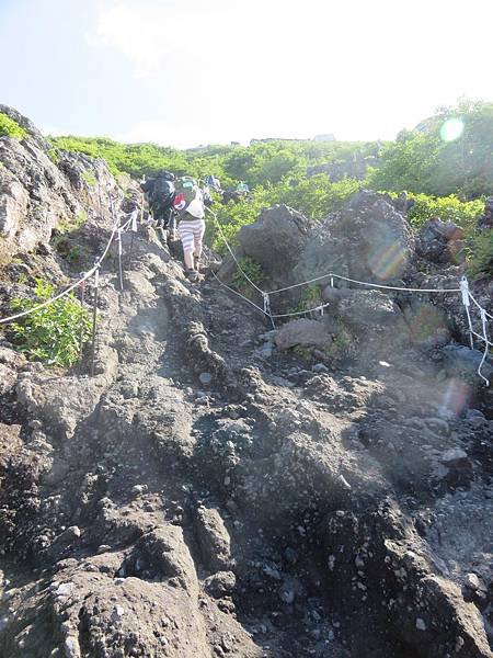
[[[35,295],[34,299],[12,299],[12,309],[23,311],[34,308],[55,295],[55,286],[37,279]],[[81,322],[83,340],[87,340],[91,328],[90,315],[71,293],[13,324],[13,341],[33,361],[69,367],[79,358]]]

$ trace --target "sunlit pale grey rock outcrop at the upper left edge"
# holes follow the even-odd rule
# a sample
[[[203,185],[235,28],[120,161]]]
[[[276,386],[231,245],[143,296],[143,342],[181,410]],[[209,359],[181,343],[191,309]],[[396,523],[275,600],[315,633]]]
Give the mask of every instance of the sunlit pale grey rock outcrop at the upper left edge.
[[[111,220],[108,194],[123,195],[102,160],[81,154],[58,155],[50,159],[49,145],[30,120],[0,105],[26,127],[26,139],[0,137],[0,263],[15,253],[46,245],[59,222],[70,223],[93,216]]]

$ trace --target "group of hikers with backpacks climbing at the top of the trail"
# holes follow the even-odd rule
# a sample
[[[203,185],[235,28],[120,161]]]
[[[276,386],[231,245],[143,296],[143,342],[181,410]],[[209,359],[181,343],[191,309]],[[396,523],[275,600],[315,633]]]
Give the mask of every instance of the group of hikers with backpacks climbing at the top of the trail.
[[[209,174],[200,188],[194,178],[175,177],[169,171],[161,171],[156,178],[142,181],[140,186],[161,237],[164,241],[168,238],[175,240],[177,232],[183,247],[185,275],[188,281],[197,281],[205,234],[205,209],[213,204],[211,191],[221,194],[227,202],[229,198],[248,196],[249,186],[240,182],[236,190],[223,192],[220,181]]]

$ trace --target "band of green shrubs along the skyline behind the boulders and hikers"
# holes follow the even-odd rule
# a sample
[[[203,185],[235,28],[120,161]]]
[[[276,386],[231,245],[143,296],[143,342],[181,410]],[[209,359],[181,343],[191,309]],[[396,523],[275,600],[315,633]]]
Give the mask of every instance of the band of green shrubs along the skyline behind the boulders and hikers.
[[[450,126],[461,129],[452,135]],[[54,154],[67,149],[104,158],[119,177],[140,179],[167,169],[202,180],[211,173],[223,189],[246,182],[248,198],[214,206],[232,246],[239,229],[255,222],[263,208],[284,203],[317,222],[339,211],[362,188],[391,194],[406,191],[415,201],[409,219],[416,230],[438,216],[471,236],[482,196],[493,194],[493,103],[461,101],[443,107],[389,143],[273,139],[183,151],[74,136],[51,138],[51,144]],[[209,243],[225,253],[217,227],[208,224]],[[471,245],[474,249],[477,243]]]

